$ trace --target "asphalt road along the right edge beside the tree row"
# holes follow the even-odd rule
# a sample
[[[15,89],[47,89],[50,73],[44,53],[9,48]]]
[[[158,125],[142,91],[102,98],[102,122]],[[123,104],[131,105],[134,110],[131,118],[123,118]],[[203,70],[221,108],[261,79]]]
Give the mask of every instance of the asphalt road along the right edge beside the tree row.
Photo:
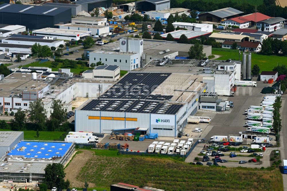
[[[280,153],[282,159],[282,166],[283,160],[287,157],[287,106],[286,106],[286,99],[287,95],[282,95],[282,107],[281,107],[281,125],[282,130],[280,132]],[[287,174],[282,174],[283,176],[283,186],[284,190],[287,190]]]

